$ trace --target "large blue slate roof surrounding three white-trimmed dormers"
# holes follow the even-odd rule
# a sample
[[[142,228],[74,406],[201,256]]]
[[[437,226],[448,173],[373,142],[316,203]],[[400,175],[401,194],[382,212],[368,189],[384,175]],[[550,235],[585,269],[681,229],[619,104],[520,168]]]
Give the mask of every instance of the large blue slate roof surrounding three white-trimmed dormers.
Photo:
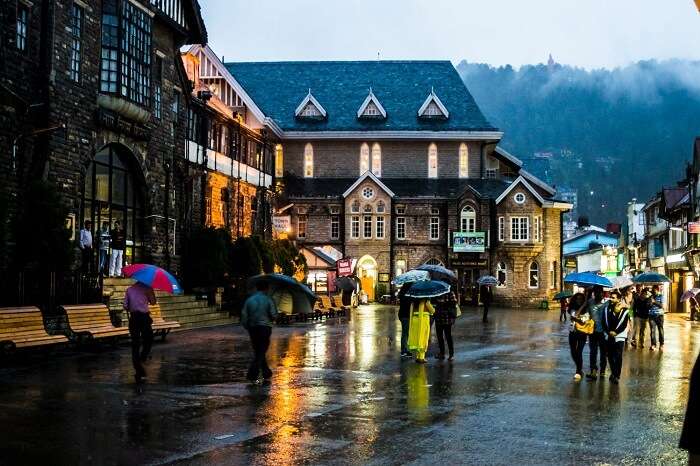
[[[347,138],[375,137],[374,133],[377,137],[389,133],[400,137],[400,133],[407,132],[412,137],[501,137],[449,61],[249,62],[225,66],[288,138],[306,137],[309,133],[321,133],[319,137],[323,137],[329,132],[342,132]],[[381,89],[387,118],[357,118],[357,104],[366,99],[370,87]],[[425,92],[432,87],[449,108],[447,120],[418,118]],[[309,88],[328,112],[326,119],[295,117],[300,96]]]

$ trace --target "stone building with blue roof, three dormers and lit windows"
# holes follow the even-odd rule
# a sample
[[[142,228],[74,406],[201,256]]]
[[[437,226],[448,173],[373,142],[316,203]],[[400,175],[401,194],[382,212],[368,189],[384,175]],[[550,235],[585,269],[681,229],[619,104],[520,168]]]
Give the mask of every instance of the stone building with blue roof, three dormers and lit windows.
[[[451,63],[225,66],[280,140],[276,223],[352,258],[370,298],[426,262],[456,270],[467,300],[486,274],[512,305],[560,286],[571,205],[498,147]]]

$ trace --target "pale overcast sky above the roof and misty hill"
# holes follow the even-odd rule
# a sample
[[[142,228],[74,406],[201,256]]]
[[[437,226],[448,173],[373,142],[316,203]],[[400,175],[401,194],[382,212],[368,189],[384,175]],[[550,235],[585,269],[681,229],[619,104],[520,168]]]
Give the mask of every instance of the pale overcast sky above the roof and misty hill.
[[[700,59],[692,0],[200,0],[226,61]]]

